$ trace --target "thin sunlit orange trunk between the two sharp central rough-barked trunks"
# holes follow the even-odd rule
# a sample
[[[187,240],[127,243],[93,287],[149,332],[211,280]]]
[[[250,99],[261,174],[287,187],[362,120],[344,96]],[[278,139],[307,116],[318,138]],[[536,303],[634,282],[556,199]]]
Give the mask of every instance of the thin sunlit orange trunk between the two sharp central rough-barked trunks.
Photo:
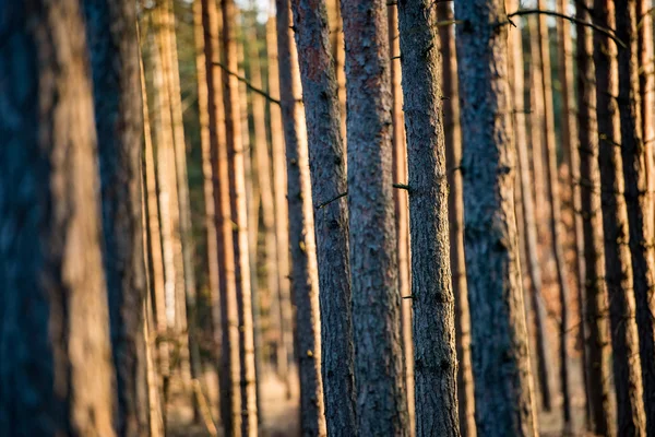
[[[388,7],[389,47],[391,57],[391,93],[393,98],[393,180],[407,181],[407,142],[405,139],[405,120],[403,115],[403,88],[401,74],[401,38],[398,35],[398,12],[396,4]],[[403,354],[405,365],[405,383],[407,385],[407,412],[409,413],[409,430],[416,433],[414,403],[414,342],[412,339],[412,274],[409,265],[409,199],[407,192],[394,190],[393,200],[396,214],[396,251],[398,253],[398,293],[401,300],[401,333],[403,335]]]

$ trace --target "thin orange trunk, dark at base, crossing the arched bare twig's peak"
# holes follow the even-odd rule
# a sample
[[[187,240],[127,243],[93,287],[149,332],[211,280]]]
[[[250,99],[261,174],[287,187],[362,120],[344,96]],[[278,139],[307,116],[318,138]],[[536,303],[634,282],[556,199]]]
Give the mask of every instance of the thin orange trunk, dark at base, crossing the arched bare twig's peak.
[[[537,1],[538,9],[545,8],[545,0]],[[559,173],[557,166],[557,144],[555,138],[555,110],[552,107],[552,78],[550,69],[550,39],[548,37],[547,16],[539,16],[538,25],[539,47],[541,55],[541,88],[544,93],[544,118],[541,132],[544,147],[546,151],[546,184],[548,192],[548,205],[550,213],[550,244],[555,255],[557,273],[557,285],[559,288],[560,317],[559,317],[559,365],[560,365],[560,390],[562,392],[562,413],[564,424],[571,422],[571,399],[569,394],[569,356],[567,343],[569,339],[569,282],[567,279],[567,265],[562,249],[564,234],[562,232],[562,218],[559,197]],[[561,68],[561,66],[560,66]],[[564,132],[565,133],[565,132]]]

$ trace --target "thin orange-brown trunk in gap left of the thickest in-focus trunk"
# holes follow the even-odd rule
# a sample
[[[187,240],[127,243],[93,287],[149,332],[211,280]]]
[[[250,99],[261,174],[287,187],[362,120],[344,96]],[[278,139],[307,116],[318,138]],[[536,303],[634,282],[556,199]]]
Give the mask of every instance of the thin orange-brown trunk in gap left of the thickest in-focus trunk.
[[[439,21],[454,20],[452,5],[442,4]],[[460,127],[460,101],[457,98],[457,58],[455,54],[455,27],[440,26],[441,52],[443,55],[443,130],[445,139],[445,168],[448,172],[450,260],[455,296],[455,347],[457,367],[457,403],[460,405],[460,433],[475,437],[475,402],[471,369],[471,316],[466,292],[466,262],[464,259],[464,199],[462,197],[462,129]]]

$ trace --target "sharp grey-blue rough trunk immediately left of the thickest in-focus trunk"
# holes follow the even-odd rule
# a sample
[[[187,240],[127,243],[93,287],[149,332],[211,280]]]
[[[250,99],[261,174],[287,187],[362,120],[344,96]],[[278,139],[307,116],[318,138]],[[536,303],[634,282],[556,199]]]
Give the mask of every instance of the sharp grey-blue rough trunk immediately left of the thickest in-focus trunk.
[[[398,2],[407,132],[417,436],[458,436],[441,54],[430,2]]]

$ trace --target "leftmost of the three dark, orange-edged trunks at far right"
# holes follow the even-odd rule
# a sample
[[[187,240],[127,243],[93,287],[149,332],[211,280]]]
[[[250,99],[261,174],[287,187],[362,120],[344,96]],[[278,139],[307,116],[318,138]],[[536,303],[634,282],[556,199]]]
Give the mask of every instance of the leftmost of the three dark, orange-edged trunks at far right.
[[[590,0],[576,0],[576,17],[582,22],[588,22],[587,12]],[[583,378],[585,382],[585,417],[586,428],[591,430],[593,423],[590,415],[592,405],[591,394],[595,390],[606,390],[606,387],[592,388],[590,375],[592,374],[592,354],[590,346],[597,342],[597,335],[603,335],[603,349],[600,358],[607,362],[607,321],[597,324],[599,316],[597,305],[603,303],[605,308],[605,248],[603,233],[603,214],[600,211],[600,173],[598,169],[598,122],[596,119],[596,88],[595,72],[593,63],[593,31],[583,24],[575,27],[576,38],[576,62],[577,62],[577,139],[572,139],[572,147],[577,147],[580,156],[580,185],[584,275],[581,280],[579,292],[579,304],[581,329],[583,329],[584,346],[582,350]],[[574,170],[574,169],[572,169]],[[600,299],[600,300],[599,300]],[[606,316],[603,316],[606,320]],[[592,326],[592,323],[594,326]],[[600,330],[599,330],[600,329]],[[586,335],[588,333],[588,338]],[[598,343],[596,343],[598,344]],[[598,358],[595,358],[598,359]],[[607,383],[607,382],[605,382]]]

